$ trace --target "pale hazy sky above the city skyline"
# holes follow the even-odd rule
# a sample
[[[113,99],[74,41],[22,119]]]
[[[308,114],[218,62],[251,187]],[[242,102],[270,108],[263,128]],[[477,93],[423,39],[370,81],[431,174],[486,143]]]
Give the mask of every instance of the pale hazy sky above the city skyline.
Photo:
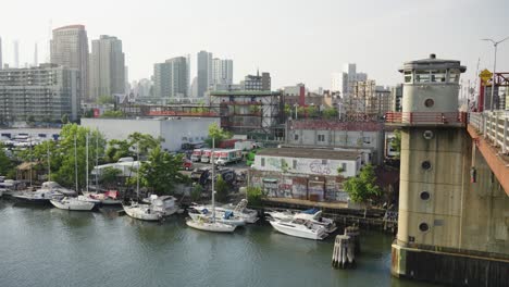
[[[82,5],[80,5],[82,4]],[[508,0],[1,0],[4,62],[49,59],[50,27],[84,24],[88,38],[122,39],[129,79],[150,77],[153,63],[196,53],[234,60],[234,80],[268,71],[273,88],[306,83],[330,88],[331,73],[357,63],[378,85],[401,82],[404,61],[461,60],[473,78],[493,68],[494,48],[481,38],[509,36]],[[51,23],[51,24],[50,24]],[[509,72],[509,40],[498,47],[497,71]]]

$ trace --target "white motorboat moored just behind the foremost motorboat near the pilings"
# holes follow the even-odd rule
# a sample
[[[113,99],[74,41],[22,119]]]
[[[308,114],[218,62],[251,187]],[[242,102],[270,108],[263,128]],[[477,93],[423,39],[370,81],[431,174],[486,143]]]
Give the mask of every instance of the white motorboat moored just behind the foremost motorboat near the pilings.
[[[336,223],[333,220],[323,217],[322,211],[318,209],[305,210],[302,212],[291,211],[269,211],[265,212],[269,221],[290,222],[293,220],[310,221],[312,224],[325,227],[327,233],[334,233],[337,229]]]

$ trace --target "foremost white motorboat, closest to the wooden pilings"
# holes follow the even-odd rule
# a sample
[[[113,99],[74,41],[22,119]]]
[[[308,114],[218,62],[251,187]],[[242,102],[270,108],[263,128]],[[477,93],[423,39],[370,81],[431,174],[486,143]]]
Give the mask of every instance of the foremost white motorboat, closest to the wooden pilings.
[[[326,233],[325,227],[313,224],[310,221],[303,221],[298,219],[293,220],[290,222],[283,222],[274,220],[270,223],[272,227],[274,227],[274,229],[276,229],[277,232],[295,237],[322,240],[328,236],[328,233]]]

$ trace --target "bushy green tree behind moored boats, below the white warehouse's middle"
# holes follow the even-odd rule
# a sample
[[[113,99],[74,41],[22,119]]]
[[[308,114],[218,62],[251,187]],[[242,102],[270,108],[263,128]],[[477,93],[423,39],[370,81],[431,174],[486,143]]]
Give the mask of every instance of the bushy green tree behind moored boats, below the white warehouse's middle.
[[[142,186],[150,188],[157,195],[173,194],[176,184],[186,183],[187,176],[179,172],[182,154],[172,155],[156,147],[150,151],[149,161],[142,162],[139,177]],[[133,183],[131,178],[131,183]]]

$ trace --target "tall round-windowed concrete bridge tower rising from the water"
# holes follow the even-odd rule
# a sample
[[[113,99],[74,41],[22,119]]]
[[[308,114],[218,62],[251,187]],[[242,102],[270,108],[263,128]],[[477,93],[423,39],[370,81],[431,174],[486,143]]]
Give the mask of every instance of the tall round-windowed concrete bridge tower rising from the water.
[[[467,114],[458,111],[459,77],[465,70],[459,61],[435,54],[406,62],[399,70],[405,78],[402,112],[388,113],[386,118],[387,125],[401,130],[392,273],[461,286],[497,286],[484,280],[489,248],[472,244],[486,241],[489,230],[480,221],[493,214],[467,215],[469,208],[482,207],[485,199],[469,194],[472,139],[465,133]],[[500,250],[506,246],[501,242],[495,249],[505,253]],[[500,264],[496,271],[507,266]]]

